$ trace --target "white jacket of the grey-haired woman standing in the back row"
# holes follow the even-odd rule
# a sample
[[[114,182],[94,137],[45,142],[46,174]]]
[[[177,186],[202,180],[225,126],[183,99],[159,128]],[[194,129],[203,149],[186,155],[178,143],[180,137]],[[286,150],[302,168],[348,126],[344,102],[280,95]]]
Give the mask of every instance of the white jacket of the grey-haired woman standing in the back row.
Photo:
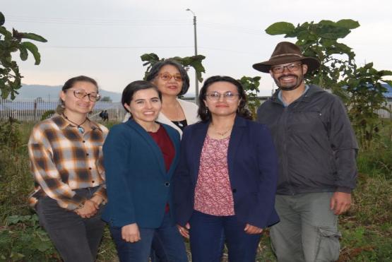
[[[181,106],[182,111],[185,114],[186,124],[195,124],[200,121],[200,118],[197,114],[198,106],[195,103],[188,102],[179,98],[177,98],[177,101],[179,102],[179,105]],[[129,117],[131,117],[131,114],[129,114],[128,112],[125,114],[123,122],[128,121]],[[182,130],[179,129],[179,127],[176,126],[176,124],[174,124],[172,121],[170,121],[170,119],[168,119],[162,112],[159,113],[157,121],[162,124],[172,126],[172,128],[176,129],[179,132],[179,135],[182,136]]]

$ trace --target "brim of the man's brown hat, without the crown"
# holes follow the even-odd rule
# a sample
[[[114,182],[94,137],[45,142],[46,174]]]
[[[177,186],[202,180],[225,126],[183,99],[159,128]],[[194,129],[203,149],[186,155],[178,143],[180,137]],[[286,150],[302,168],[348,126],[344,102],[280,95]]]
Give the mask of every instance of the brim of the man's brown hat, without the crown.
[[[275,59],[271,59],[268,61],[263,61],[261,63],[254,64],[253,68],[256,69],[257,71],[261,71],[263,73],[269,73],[271,66],[276,66],[278,64],[287,64],[287,63],[292,63],[292,62],[296,62],[296,61],[302,61],[303,64],[306,64],[308,66],[307,73],[310,73],[311,71],[319,69],[319,67],[320,67],[319,60],[317,60],[313,57],[303,57],[303,58],[298,59],[298,56],[281,56],[281,57],[277,57]]]

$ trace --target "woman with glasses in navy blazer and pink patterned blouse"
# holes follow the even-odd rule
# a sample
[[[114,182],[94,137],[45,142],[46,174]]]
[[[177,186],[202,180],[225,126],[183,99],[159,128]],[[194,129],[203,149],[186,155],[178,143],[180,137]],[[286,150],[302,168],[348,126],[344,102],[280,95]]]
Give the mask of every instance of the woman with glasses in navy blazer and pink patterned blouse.
[[[249,120],[244,89],[233,78],[208,78],[198,100],[202,122],[186,127],[174,174],[179,231],[190,237],[194,262],[220,261],[222,232],[231,262],[253,262],[263,228],[279,220],[271,133]]]

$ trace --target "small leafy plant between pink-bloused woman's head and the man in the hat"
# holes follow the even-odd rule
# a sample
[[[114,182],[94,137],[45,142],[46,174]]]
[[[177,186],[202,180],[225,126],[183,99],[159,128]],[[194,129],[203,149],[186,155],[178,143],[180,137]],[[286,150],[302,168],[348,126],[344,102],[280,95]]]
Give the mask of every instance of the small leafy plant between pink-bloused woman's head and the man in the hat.
[[[260,76],[256,76],[254,78],[249,76],[242,76],[241,79],[238,79],[239,83],[242,84],[245,93],[247,94],[247,107],[251,111],[254,119],[256,119],[257,109],[261,105],[261,102],[257,97],[257,94],[259,93],[260,79]]]

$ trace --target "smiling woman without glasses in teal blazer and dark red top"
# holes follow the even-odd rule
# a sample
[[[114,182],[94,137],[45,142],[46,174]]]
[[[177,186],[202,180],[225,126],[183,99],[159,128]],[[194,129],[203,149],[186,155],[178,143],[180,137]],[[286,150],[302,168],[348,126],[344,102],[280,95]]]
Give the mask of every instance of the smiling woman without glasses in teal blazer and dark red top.
[[[121,102],[131,119],[113,126],[103,146],[108,203],[102,219],[121,262],[147,262],[154,235],[170,261],[188,261],[172,209],[179,133],[155,121],[161,100],[153,83],[127,85]]]

